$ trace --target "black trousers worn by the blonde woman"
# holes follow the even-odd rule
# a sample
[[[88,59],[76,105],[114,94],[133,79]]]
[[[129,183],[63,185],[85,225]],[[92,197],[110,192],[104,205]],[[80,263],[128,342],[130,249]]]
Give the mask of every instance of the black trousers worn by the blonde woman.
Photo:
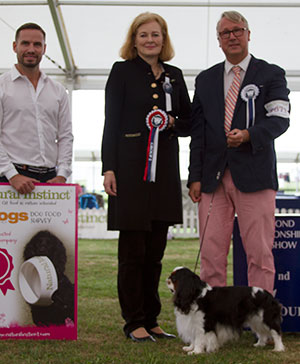
[[[158,326],[161,310],[158,294],[168,224],[152,222],[152,231],[120,231],[118,294],[125,335]]]

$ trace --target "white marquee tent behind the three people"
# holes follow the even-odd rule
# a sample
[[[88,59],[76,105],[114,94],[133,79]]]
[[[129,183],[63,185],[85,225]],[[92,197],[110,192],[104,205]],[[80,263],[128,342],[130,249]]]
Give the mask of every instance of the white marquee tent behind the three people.
[[[151,11],[167,20],[176,52],[171,63],[183,70],[192,92],[199,71],[224,59],[218,47],[215,26],[225,10],[237,10],[247,18],[251,30],[251,53],[286,70],[288,85],[293,91],[291,99],[296,100],[295,106],[292,103],[292,122],[296,125],[296,115],[300,117],[297,106],[300,104],[300,0],[0,1],[0,73],[15,63],[12,51],[15,30],[25,22],[40,24],[47,33],[47,57],[42,61],[42,68],[70,91],[74,130],[79,130],[76,123],[83,123],[78,119],[79,115],[92,118],[93,113],[98,114],[97,125],[101,128],[103,108],[93,111],[93,96],[89,94],[86,104],[81,105],[85,111],[80,112],[78,103],[82,103],[82,98],[77,96],[83,94],[82,90],[102,90],[100,94],[97,93],[96,100],[97,97],[103,99],[109,69],[119,59],[119,49],[137,14]],[[99,104],[97,101],[95,103]],[[292,132],[289,135],[286,133],[281,137],[283,142],[280,140],[279,145],[288,147],[286,150],[284,146],[280,147],[279,157],[284,162],[297,162],[300,153],[297,129],[290,129]],[[79,138],[81,135],[78,132]],[[93,143],[83,143],[85,147],[76,149],[75,143],[75,161],[99,160],[100,138],[99,132],[98,147],[92,146]]]

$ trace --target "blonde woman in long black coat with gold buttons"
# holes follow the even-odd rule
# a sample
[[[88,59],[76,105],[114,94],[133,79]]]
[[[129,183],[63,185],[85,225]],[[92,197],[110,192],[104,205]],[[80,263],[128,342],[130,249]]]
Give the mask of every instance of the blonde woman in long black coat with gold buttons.
[[[174,337],[157,323],[168,227],[182,222],[177,136],[187,136],[190,128],[182,72],[164,63],[173,53],[165,20],[140,14],[121,49],[125,62],[113,65],[106,85],[108,229],[120,230],[119,301],[125,334],[137,342]]]

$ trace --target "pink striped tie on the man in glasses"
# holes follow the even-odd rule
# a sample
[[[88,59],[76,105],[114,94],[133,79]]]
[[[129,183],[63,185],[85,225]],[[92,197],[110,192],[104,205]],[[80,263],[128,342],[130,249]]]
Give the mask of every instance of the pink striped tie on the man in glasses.
[[[238,98],[239,89],[241,85],[241,68],[240,66],[232,67],[232,71],[234,72],[234,77],[232,84],[227,92],[225,99],[225,121],[224,121],[224,130],[227,135],[231,129],[231,122],[233,118],[234,108],[236,104],[236,100]]]

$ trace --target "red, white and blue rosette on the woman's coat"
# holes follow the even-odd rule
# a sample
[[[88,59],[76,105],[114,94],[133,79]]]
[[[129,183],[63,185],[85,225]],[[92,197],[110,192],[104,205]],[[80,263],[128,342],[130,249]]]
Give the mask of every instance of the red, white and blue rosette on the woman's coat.
[[[144,181],[155,182],[158,153],[158,135],[168,125],[168,115],[160,109],[152,110],[146,116],[146,125],[150,129]]]

